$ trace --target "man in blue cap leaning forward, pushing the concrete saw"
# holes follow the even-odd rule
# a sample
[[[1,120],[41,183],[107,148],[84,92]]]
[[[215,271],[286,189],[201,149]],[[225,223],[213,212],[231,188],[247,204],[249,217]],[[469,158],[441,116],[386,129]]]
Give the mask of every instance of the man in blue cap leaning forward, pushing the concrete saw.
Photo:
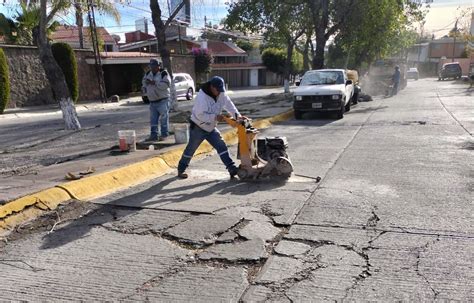
[[[196,149],[202,141],[207,140],[217,150],[219,157],[224,163],[230,177],[237,175],[238,168],[229,155],[229,150],[216,128],[217,122],[224,121],[222,109],[225,109],[232,117],[240,117],[240,113],[234,103],[225,94],[224,79],[213,77],[204,83],[194,100],[194,106],[190,121],[190,138],[178,165],[178,177],[186,179],[185,172]]]

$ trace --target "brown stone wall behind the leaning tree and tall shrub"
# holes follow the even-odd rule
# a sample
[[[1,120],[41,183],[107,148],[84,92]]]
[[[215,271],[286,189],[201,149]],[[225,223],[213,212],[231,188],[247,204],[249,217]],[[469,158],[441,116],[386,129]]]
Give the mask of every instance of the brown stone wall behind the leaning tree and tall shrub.
[[[2,45],[10,71],[10,102],[7,108],[54,104],[53,94],[39,59],[38,49],[29,46]],[[90,51],[75,51],[79,78],[79,101],[99,98],[93,65],[85,62]]]

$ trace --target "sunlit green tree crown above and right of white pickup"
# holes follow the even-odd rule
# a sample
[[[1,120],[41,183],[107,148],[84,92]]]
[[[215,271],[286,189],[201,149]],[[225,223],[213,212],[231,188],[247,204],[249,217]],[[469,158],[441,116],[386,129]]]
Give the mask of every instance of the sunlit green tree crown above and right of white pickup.
[[[331,64],[359,68],[376,58],[403,57],[418,38],[411,25],[422,22],[425,13],[420,4],[410,1],[357,1],[329,47]]]

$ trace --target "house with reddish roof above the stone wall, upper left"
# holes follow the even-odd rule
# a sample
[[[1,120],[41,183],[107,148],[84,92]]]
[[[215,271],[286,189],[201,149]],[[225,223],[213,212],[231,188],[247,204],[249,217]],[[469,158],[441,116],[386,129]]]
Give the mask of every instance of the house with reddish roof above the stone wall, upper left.
[[[90,28],[83,27],[84,36],[84,48],[92,49],[92,42],[90,37]],[[117,52],[119,50],[117,38],[114,38],[109,32],[103,27],[97,27],[97,36],[101,43],[103,43],[105,52]],[[53,42],[64,42],[69,44],[74,49],[80,48],[79,43],[79,28],[77,26],[60,25],[51,34],[51,40]]]

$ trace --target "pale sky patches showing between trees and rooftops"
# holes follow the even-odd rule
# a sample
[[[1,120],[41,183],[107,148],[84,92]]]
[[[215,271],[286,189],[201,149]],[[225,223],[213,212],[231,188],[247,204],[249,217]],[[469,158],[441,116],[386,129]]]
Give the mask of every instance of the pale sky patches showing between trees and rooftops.
[[[97,14],[97,25],[104,26],[110,33],[124,37],[125,32],[135,30],[135,20],[139,18],[151,18],[149,0],[111,0],[117,5],[121,13],[120,25],[111,18]],[[166,0],[159,0],[164,8],[164,15],[168,15],[168,5]],[[199,28],[204,23],[206,17],[208,22],[219,23],[227,14],[228,3],[231,0],[191,0],[191,23],[192,27]],[[18,9],[17,0],[6,0],[5,4],[0,4],[0,13],[11,15]],[[425,31],[434,33],[436,37],[446,34],[453,27],[455,18],[459,15],[459,9],[474,8],[474,0],[434,0],[426,18]],[[73,25],[75,23],[72,14],[67,14],[58,18],[60,22]],[[150,22],[151,24],[151,22]]]

